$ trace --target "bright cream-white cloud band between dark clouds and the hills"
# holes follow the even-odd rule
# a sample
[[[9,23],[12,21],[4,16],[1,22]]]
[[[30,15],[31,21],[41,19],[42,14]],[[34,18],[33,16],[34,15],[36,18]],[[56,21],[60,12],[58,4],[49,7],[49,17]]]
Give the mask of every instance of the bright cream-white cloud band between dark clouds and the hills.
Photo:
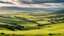
[[[1,1],[12,2],[13,4],[0,3],[0,6],[17,6],[17,7],[23,7],[23,8],[27,8],[27,7],[28,8],[64,8],[64,3],[25,4],[20,2],[20,0],[1,0]]]

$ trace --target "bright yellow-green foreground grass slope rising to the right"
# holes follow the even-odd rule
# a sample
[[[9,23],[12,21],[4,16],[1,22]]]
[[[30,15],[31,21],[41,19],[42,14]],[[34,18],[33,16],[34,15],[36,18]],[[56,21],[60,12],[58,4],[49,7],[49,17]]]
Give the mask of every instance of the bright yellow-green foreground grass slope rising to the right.
[[[26,30],[26,31],[10,31],[10,30],[0,30],[1,32],[4,32],[6,34],[17,34],[17,35],[37,35],[37,34],[44,34],[44,33],[64,33],[64,24],[57,24],[53,25],[49,28],[44,28],[44,29],[35,29],[35,30]],[[9,33],[10,32],[10,33]]]

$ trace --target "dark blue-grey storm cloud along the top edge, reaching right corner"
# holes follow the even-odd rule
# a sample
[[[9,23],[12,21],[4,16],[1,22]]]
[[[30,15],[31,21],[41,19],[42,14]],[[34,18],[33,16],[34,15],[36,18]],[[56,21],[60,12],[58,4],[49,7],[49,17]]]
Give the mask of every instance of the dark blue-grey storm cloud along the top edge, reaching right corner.
[[[39,3],[59,3],[64,2],[64,0],[20,0],[26,4],[39,4]]]

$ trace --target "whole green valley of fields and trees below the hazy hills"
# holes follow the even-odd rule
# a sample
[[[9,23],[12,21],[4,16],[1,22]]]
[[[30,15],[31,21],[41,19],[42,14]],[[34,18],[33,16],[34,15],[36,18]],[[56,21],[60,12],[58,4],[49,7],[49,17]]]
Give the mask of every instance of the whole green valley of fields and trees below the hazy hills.
[[[0,36],[64,36],[64,15],[1,14]]]

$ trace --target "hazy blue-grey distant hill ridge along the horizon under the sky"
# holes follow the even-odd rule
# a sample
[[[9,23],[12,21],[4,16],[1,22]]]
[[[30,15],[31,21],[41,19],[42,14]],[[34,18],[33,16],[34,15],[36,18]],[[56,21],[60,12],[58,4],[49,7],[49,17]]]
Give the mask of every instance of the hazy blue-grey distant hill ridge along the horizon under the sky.
[[[58,11],[64,8],[22,8],[22,7],[0,7],[0,10],[24,10],[24,11]]]

